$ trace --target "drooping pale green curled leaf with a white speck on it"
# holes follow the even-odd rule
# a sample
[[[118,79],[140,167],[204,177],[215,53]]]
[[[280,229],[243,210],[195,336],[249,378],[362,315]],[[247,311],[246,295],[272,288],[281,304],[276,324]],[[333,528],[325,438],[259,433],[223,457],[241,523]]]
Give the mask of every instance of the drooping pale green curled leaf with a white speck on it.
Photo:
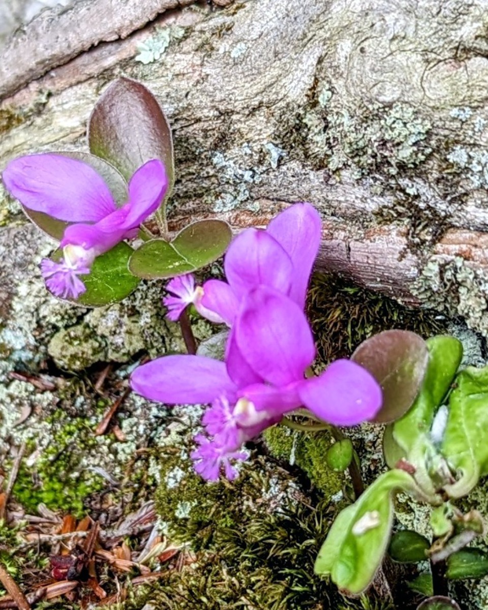
[[[315,561],[315,573],[359,594],[371,583],[388,546],[393,521],[393,492],[412,489],[403,470],[376,479],[359,499],[339,513]]]

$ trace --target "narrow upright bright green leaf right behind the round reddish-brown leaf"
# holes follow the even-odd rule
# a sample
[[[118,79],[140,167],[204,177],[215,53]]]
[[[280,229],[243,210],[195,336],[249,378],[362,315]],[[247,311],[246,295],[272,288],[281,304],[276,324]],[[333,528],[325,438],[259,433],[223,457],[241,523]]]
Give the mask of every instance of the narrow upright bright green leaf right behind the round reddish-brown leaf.
[[[392,436],[408,456],[418,437],[431,428],[437,407],[449,391],[462,358],[462,345],[448,336],[426,340],[429,360],[420,393],[412,408],[393,424]]]

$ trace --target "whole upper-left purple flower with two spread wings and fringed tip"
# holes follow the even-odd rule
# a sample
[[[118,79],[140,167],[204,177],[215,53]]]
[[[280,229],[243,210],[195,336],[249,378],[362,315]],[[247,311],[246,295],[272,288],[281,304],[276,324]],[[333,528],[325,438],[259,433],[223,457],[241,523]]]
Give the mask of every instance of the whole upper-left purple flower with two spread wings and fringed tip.
[[[63,259],[41,263],[49,290],[63,298],[85,292],[78,276],[90,273],[97,256],[124,239],[133,239],[168,188],[163,164],[153,159],[135,171],[129,181],[129,201],[117,207],[106,182],[90,165],[49,153],[14,159],[2,180],[30,210],[74,223],[65,229],[60,243]]]

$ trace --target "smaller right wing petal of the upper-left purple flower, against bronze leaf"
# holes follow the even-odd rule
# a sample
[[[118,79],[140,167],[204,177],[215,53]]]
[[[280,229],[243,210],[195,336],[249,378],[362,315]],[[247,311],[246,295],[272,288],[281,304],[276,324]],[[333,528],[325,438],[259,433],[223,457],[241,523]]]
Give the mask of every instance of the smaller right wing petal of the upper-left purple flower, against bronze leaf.
[[[168,184],[164,165],[159,159],[152,159],[135,171],[129,181],[129,203],[123,228],[138,227],[152,212],[156,212]]]

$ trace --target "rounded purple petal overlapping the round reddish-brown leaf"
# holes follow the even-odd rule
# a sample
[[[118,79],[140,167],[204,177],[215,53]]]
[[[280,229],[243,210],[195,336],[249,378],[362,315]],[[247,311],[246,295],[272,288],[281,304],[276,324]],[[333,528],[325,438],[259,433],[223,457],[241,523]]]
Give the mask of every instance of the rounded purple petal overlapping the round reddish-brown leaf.
[[[317,417],[336,426],[354,426],[375,417],[382,394],[376,379],[356,362],[332,362],[319,377],[299,387],[304,404]]]

